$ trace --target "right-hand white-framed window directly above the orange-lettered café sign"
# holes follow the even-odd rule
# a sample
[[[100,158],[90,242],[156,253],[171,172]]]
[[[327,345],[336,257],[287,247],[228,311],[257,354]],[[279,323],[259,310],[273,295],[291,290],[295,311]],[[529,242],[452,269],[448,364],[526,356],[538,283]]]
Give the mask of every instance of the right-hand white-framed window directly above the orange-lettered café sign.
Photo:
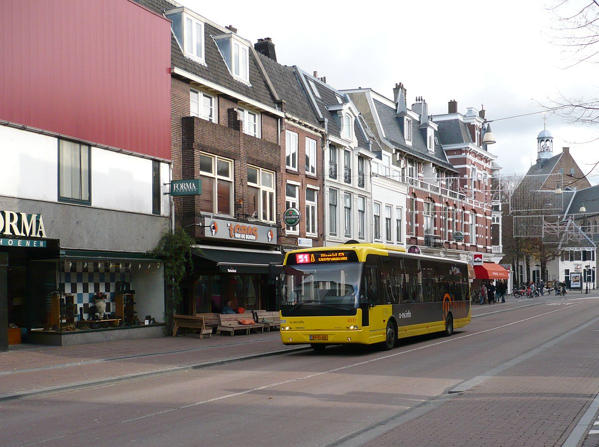
[[[276,213],[275,173],[247,166],[248,213],[255,219],[274,222]]]

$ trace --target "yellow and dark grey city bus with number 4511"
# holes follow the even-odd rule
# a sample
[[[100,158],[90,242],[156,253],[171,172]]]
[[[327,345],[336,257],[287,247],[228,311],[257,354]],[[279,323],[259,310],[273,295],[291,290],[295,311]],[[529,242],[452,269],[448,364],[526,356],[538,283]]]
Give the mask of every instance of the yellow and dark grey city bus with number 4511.
[[[470,322],[465,261],[348,241],[294,250],[283,262],[281,340],[327,345],[380,343],[443,332]]]

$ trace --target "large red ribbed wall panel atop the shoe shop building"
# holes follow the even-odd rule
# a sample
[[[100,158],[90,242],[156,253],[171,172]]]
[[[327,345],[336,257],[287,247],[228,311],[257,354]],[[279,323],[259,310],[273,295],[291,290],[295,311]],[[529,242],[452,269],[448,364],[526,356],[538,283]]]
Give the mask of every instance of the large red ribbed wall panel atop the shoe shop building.
[[[171,25],[131,0],[1,0],[0,120],[171,159]]]

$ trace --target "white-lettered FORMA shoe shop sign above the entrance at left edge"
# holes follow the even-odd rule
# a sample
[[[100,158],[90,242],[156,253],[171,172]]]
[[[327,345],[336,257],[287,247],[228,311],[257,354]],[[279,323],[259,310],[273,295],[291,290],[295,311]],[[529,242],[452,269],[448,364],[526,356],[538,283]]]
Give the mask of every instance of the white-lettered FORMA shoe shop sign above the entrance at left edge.
[[[47,237],[44,219],[40,214],[16,213],[0,210],[0,246],[45,247],[46,241],[15,239],[14,237]]]

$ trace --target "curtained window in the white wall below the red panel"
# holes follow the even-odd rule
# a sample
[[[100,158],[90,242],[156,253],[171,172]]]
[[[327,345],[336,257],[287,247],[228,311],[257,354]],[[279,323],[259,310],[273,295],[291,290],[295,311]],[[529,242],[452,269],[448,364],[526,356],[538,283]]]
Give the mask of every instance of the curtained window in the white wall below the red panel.
[[[59,200],[90,204],[90,147],[67,140],[58,147]]]

